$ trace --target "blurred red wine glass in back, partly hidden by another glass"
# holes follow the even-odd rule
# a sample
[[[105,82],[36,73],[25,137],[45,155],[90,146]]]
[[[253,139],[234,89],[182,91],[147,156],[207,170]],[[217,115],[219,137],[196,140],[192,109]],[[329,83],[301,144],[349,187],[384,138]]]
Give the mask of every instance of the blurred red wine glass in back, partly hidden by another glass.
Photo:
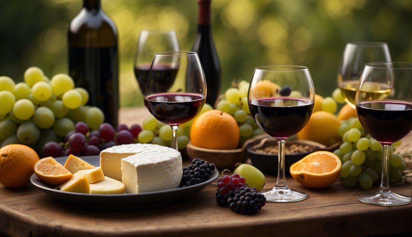
[[[149,75],[153,56],[157,52],[180,51],[176,31],[149,31],[142,30],[136,46],[134,55],[134,74],[142,94],[145,93],[145,83]],[[159,65],[162,68],[162,65]]]

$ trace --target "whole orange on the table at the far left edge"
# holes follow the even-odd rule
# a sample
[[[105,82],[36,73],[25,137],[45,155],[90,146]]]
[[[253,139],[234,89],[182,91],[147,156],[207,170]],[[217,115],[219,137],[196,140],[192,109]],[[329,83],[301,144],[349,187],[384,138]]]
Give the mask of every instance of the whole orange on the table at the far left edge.
[[[0,183],[8,188],[21,188],[30,182],[37,153],[28,146],[10,144],[0,149]]]

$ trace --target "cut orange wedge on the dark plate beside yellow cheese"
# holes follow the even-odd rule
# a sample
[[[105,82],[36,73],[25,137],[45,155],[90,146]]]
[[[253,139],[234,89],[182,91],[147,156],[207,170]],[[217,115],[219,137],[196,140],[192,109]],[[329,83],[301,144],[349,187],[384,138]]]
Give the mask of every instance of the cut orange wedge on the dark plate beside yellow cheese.
[[[58,186],[68,181],[73,174],[53,157],[42,158],[36,162],[34,172],[44,184]]]

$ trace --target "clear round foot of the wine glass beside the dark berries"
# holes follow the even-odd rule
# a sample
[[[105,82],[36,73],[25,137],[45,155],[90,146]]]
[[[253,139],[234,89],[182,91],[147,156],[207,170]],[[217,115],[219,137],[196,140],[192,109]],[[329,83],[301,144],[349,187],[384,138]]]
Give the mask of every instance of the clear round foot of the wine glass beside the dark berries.
[[[265,195],[267,202],[297,202],[308,196],[304,191],[276,187],[263,193],[263,195]]]

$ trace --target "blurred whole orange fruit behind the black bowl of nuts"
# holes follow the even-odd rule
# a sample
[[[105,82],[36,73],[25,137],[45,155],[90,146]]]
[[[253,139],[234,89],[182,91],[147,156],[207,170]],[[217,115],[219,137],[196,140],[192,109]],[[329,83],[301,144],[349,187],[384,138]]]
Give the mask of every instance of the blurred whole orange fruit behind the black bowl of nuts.
[[[330,146],[341,139],[337,134],[339,126],[340,121],[335,114],[326,111],[314,112],[306,126],[297,133],[297,138]]]

